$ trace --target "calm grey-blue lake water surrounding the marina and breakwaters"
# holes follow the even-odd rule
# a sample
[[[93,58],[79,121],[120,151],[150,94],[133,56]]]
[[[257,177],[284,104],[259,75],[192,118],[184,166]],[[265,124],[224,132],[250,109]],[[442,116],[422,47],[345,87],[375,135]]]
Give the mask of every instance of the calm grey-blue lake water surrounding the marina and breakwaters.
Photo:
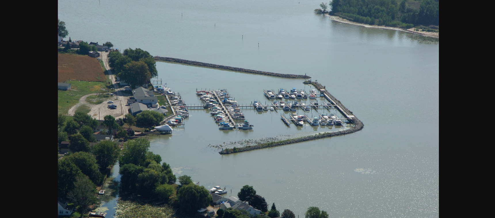
[[[253,185],[270,205],[300,217],[310,206],[330,217],[439,217],[438,39],[331,21],[313,14],[321,1],[298,2],[59,0],[58,18],[71,39],[111,41],[153,56],[306,73],[365,125],[346,136],[221,156],[213,145],[346,127],[286,127],[283,111],[243,109],[254,130],[219,131],[206,110],[192,110],[185,128],[151,143],[177,176],[192,176],[208,189],[226,186],[234,196]],[[241,104],[267,102],[263,89],[310,89],[302,79],[164,62],[157,69],[189,105],[199,104],[196,89],[225,88]],[[106,202],[112,215],[115,201]]]

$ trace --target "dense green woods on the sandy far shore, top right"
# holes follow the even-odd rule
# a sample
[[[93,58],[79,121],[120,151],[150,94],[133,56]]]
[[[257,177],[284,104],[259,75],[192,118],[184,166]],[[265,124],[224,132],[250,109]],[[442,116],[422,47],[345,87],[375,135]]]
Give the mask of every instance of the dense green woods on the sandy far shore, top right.
[[[414,26],[439,26],[440,1],[421,0],[419,8],[408,0],[332,0],[328,3],[331,14],[359,23],[409,29]],[[413,2],[418,2],[414,0]],[[327,13],[327,4],[321,3],[317,13]]]

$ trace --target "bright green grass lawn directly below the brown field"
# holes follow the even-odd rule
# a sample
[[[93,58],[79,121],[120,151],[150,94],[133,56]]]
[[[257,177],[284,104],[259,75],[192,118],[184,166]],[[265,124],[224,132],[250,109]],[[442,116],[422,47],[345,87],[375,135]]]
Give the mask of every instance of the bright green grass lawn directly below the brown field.
[[[69,109],[79,102],[79,99],[91,93],[106,93],[110,90],[106,88],[104,82],[88,82],[71,80],[66,81],[71,84],[71,89],[58,90],[58,113],[67,114]]]

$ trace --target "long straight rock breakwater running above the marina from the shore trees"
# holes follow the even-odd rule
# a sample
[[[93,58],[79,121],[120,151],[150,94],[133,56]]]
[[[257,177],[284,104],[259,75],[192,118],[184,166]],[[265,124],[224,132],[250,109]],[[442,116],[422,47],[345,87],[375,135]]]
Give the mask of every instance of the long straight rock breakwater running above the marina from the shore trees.
[[[236,71],[236,72],[243,72],[243,73],[255,73],[255,74],[277,76],[277,77],[284,77],[284,78],[304,78],[304,79],[311,78],[311,76],[308,76],[308,75],[255,71],[255,70],[249,70],[249,69],[244,69],[244,68],[235,68],[235,67],[229,67],[229,66],[223,66],[223,65],[208,64],[208,63],[203,63],[203,62],[198,62],[198,61],[189,61],[189,60],[184,60],[184,59],[179,59],[179,58],[167,58],[167,57],[154,56],[153,59],[157,60],[157,61],[175,62],[175,63],[195,65],[195,66],[201,66],[201,67],[207,67],[207,68],[222,69],[222,70],[227,70],[227,71]]]

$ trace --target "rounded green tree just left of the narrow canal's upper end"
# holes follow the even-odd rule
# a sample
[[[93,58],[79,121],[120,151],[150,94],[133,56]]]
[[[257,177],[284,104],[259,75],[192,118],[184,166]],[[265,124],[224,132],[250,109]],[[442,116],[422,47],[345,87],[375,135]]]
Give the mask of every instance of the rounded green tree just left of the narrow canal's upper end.
[[[99,167],[105,169],[117,161],[120,148],[117,143],[104,140],[93,146],[92,153],[95,155]]]

